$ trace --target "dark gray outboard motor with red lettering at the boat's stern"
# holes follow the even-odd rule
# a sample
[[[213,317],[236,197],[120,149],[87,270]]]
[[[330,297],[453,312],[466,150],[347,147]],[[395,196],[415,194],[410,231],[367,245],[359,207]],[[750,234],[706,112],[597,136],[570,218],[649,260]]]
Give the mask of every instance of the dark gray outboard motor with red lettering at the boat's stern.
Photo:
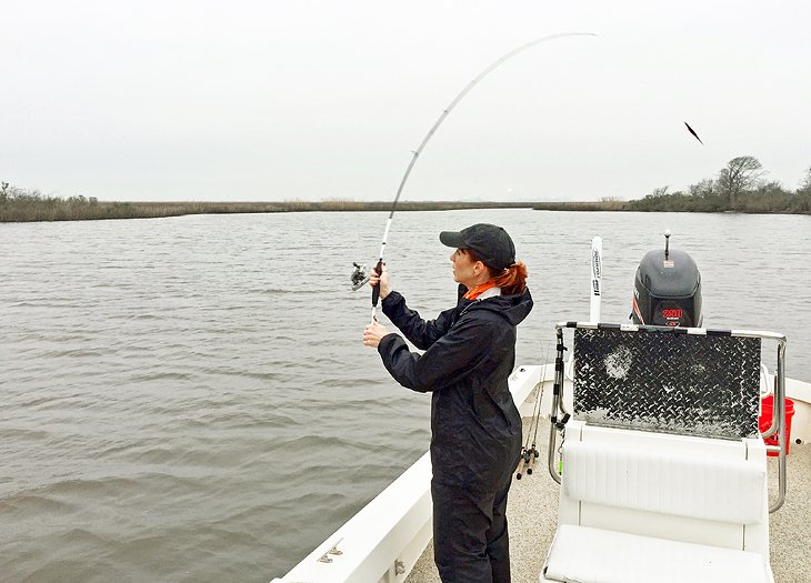
[[[664,232],[664,251],[649,251],[639,262],[631,319],[634,324],[702,324],[699,268],[684,251],[670,250],[670,231]]]

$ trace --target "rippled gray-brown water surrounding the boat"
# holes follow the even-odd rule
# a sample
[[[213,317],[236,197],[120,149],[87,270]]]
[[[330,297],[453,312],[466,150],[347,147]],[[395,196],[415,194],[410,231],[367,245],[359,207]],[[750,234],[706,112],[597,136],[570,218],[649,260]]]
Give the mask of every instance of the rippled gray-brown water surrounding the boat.
[[[0,224],[0,579],[267,582],[417,460],[430,399],[361,344],[369,293],[349,282],[387,214]],[[811,380],[810,217],[400,212],[387,262],[423,316],[455,300],[439,231],[474,222],[530,271],[519,363],[588,318],[593,235],[602,320],[624,322],[670,229],[704,325],[785,333]]]

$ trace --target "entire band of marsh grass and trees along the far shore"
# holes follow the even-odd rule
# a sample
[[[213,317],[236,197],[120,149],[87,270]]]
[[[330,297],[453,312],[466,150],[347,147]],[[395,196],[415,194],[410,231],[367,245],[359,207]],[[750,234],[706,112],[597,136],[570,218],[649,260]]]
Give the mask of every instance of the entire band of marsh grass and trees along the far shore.
[[[811,167],[795,190],[779,181],[765,180],[757,158],[730,160],[714,178],[703,179],[687,190],[654,189],[650,194],[623,201],[603,198],[599,202],[462,202],[403,201],[398,210],[433,211],[454,209],[531,208],[551,211],[651,211],[651,212],[744,212],[811,214]],[[388,211],[389,202],[350,199],[282,202],[102,202],[96,197],[51,197],[39,190],[0,182],[0,222],[82,221],[140,219],[182,214],[237,212]]]

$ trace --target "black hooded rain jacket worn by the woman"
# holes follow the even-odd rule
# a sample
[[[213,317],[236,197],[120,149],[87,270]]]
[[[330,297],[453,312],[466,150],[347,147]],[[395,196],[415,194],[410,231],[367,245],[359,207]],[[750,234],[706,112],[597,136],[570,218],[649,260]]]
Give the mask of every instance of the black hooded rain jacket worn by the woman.
[[[425,321],[392,291],[383,313],[399,334],[387,334],[378,352],[401,385],[432,392],[433,480],[488,492],[512,472],[521,453],[521,416],[508,376],[515,365],[515,326],[532,310],[529,290],[518,295],[465,300]]]

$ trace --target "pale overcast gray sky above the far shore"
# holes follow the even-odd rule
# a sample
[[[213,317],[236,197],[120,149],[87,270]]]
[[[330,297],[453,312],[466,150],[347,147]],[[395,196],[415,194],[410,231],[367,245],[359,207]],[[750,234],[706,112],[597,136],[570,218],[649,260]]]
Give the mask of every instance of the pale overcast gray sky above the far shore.
[[[102,200],[597,200],[811,165],[811,2],[14,1],[0,179]],[[707,144],[685,130],[688,121]]]

